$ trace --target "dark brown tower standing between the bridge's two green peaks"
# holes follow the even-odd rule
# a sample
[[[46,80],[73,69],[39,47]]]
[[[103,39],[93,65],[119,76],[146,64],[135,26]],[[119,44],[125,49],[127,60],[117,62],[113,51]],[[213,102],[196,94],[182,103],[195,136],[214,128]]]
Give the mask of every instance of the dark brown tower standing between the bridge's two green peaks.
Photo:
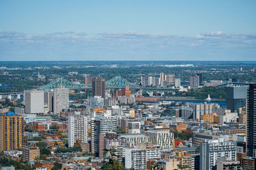
[[[105,98],[106,93],[106,80],[101,77],[92,79],[92,96],[101,96]]]

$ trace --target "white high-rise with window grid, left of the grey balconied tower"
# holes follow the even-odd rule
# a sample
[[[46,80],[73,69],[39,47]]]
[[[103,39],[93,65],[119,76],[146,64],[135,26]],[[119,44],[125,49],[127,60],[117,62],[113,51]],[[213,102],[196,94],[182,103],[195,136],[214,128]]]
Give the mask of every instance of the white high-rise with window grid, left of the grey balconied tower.
[[[80,112],[68,115],[68,147],[74,146],[77,140],[88,143],[88,120]]]

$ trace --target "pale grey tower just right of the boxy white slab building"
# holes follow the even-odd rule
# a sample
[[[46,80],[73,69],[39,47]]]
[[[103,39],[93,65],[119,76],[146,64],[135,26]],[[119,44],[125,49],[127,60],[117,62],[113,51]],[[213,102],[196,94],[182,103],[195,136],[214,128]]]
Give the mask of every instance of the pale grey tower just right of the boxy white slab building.
[[[61,86],[53,90],[53,114],[60,116],[62,110],[69,108],[68,89]]]

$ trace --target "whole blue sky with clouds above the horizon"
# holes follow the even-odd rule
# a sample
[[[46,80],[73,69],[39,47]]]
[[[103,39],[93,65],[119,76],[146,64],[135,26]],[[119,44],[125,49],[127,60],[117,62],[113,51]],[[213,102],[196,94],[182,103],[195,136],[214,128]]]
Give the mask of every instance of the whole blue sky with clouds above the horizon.
[[[256,1],[0,1],[0,60],[256,60]]]

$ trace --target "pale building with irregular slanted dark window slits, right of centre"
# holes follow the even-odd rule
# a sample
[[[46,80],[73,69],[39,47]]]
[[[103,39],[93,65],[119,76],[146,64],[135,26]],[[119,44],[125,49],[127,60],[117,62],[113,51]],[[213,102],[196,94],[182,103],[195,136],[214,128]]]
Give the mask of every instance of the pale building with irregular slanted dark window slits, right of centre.
[[[174,147],[174,134],[168,131],[145,131],[145,135],[153,145],[159,145],[160,148],[173,148]]]

